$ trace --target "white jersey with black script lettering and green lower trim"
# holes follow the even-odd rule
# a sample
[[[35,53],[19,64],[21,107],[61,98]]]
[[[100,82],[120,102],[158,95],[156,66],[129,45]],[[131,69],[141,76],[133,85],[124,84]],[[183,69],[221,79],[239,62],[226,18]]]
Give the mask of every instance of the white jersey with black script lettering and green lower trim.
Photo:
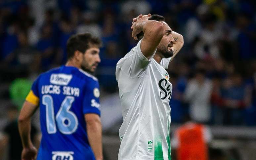
[[[171,58],[158,64],[147,59],[141,41],[116,65],[116,79],[123,124],[118,160],[170,160],[172,84],[165,68]]]

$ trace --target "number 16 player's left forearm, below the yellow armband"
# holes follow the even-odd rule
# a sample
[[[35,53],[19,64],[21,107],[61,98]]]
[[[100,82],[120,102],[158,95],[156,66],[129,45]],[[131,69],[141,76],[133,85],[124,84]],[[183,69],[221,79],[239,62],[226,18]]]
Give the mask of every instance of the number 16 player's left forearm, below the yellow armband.
[[[20,132],[23,148],[32,146],[32,142],[30,139],[31,119],[30,118],[23,119],[20,116],[18,125],[19,125],[19,132]]]

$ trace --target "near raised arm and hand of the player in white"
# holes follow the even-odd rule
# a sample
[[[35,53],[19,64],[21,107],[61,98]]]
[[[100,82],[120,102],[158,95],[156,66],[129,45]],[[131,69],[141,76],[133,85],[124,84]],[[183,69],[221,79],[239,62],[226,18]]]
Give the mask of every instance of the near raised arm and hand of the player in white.
[[[141,41],[141,52],[147,59],[153,55],[164,35],[163,24],[156,20],[148,20],[149,18],[149,16],[140,15],[132,25],[132,37],[138,39],[137,34],[144,33]]]

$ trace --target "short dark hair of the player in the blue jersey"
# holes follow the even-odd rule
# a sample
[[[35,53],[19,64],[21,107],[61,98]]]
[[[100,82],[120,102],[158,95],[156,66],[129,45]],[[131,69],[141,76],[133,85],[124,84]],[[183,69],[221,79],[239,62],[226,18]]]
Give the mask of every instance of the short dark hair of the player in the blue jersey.
[[[90,33],[75,34],[67,40],[67,59],[74,56],[75,51],[85,53],[90,45],[101,46],[101,40],[98,37],[93,37]]]

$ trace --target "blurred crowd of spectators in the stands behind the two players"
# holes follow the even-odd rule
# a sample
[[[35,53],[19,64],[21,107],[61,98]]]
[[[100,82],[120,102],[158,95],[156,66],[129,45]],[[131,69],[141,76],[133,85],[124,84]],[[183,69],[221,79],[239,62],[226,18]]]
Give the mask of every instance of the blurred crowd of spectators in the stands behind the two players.
[[[101,89],[117,93],[116,63],[137,44],[132,19],[159,14],[185,42],[167,70],[172,122],[256,126],[255,9],[253,0],[2,0],[0,82],[11,88],[63,65],[69,36],[89,32],[103,41]],[[1,89],[1,99],[11,93]]]

